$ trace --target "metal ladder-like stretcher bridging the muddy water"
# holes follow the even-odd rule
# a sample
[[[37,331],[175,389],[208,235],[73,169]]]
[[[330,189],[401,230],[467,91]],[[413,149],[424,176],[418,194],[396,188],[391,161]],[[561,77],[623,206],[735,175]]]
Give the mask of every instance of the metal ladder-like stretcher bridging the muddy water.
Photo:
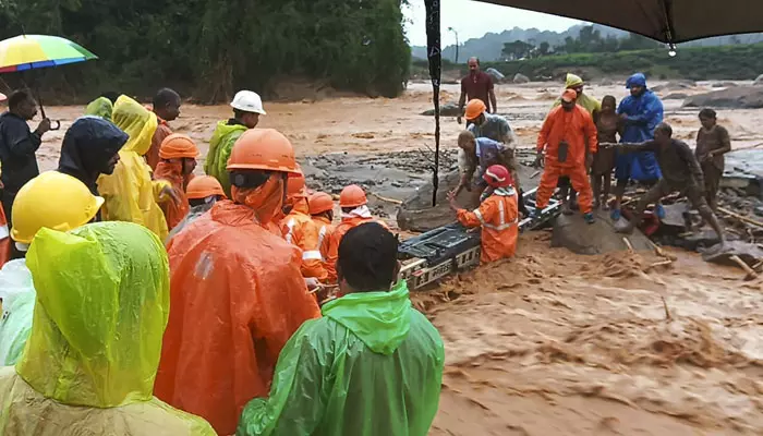
[[[524,205],[531,215],[519,221],[520,232],[537,229],[561,211],[561,202],[552,198],[548,206],[533,214],[536,191],[524,193]],[[400,244],[400,278],[408,281],[409,289],[422,289],[456,271],[480,265],[480,229],[467,229],[456,222],[429,230]]]

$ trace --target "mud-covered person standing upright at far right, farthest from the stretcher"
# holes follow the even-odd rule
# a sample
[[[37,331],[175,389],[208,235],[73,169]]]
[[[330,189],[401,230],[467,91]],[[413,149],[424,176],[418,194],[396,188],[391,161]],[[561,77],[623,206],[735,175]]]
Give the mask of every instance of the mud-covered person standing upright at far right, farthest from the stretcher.
[[[713,211],[718,209],[718,187],[726,166],[724,155],[731,150],[731,140],[728,131],[717,124],[713,109],[700,111],[702,126],[697,132],[697,148],[694,156],[702,167],[705,178],[705,199]]]

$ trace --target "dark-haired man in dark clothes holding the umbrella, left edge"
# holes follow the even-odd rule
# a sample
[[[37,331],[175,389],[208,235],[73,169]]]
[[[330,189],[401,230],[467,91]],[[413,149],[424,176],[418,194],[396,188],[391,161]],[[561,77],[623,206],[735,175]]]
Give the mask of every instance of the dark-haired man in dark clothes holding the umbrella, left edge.
[[[27,121],[37,114],[37,102],[25,90],[16,90],[8,99],[8,111],[0,114],[0,167],[2,173],[2,208],[13,228],[13,201],[26,182],[39,174],[35,153],[43,135],[50,130],[50,120],[43,119],[34,132]],[[13,250],[13,256],[21,254]]]

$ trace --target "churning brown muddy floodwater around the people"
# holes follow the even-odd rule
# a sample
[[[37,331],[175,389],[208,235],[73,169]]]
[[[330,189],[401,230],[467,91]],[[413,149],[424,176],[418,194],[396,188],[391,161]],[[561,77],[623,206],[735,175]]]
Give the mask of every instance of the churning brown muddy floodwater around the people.
[[[499,113],[520,146],[534,145],[560,90],[556,83],[498,87]],[[619,101],[627,90],[592,85],[586,93]],[[364,183],[374,210],[393,222],[395,201],[431,180],[434,120],[419,114],[431,98],[428,85],[412,84],[399,99],[266,102],[261,126],[291,138],[308,185],[338,193]],[[458,87],[445,86],[441,100],[457,101]],[[680,106],[665,100],[666,120],[693,145],[698,110]],[[55,167],[82,110],[48,108],[63,128],[46,135],[43,169]],[[185,105],[171,125],[205,155],[215,123],[228,117],[227,106]],[[719,110],[718,118],[735,148],[763,142],[763,110]],[[446,168],[460,128],[443,119]],[[664,265],[649,252],[574,255],[549,249],[549,239],[548,231],[523,234],[514,259],[413,295],[446,347],[432,435],[763,434],[761,279],[744,281],[739,269],[678,250]]]

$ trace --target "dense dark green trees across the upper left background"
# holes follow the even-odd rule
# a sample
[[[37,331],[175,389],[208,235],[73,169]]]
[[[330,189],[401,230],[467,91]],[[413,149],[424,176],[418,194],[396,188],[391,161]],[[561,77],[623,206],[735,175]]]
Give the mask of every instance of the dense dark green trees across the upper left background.
[[[149,96],[173,86],[220,101],[239,88],[267,95],[278,78],[301,75],[393,97],[411,58],[400,8],[401,0],[0,0],[0,37],[23,27],[99,56],[37,73],[57,95]]]

